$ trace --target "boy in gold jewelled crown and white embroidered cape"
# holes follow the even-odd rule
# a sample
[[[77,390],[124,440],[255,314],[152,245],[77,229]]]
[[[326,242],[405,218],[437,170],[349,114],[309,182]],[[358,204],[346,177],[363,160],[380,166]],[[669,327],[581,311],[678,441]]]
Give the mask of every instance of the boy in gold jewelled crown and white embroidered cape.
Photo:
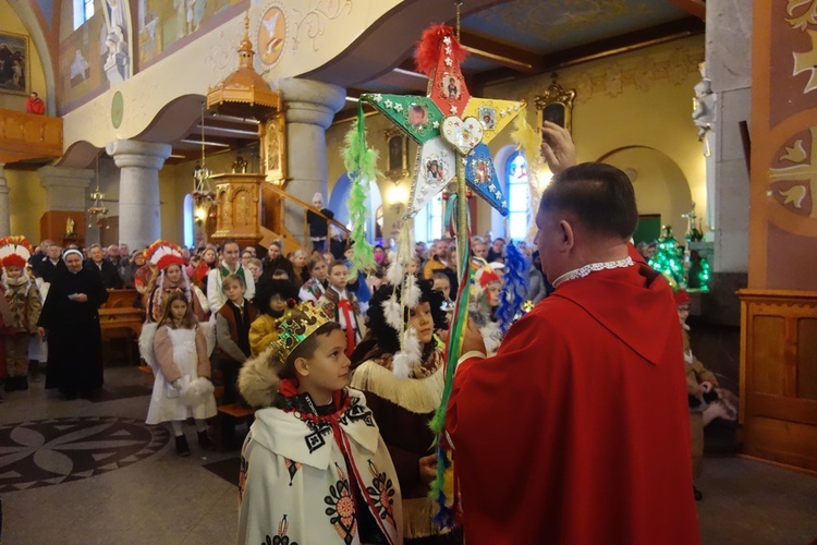
[[[402,543],[397,473],[349,386],[346,338],[310,302],[289,303],[269,349],[239,376],[257,408],[239,479],[239,543]]]

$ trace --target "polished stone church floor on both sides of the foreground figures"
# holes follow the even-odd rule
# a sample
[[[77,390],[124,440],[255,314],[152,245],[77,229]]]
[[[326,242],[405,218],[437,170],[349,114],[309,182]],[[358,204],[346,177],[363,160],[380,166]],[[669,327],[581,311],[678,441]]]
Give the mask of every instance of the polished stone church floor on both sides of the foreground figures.
[[[106,370],[106,389],[113,393],[150,382],[133,367]],[[115,399],[64,401],[35,383],[0,404],[0,542],[235,543],[237,489],[229,475],[205,465],[229,465],[237,452],[198,450],[191,426],[193,456],[179,458],[163,427],[144,425],[148,396],[110,397]],[[698,488],[705,545],[806,545],[817,538],[815,474],[707,458]]]

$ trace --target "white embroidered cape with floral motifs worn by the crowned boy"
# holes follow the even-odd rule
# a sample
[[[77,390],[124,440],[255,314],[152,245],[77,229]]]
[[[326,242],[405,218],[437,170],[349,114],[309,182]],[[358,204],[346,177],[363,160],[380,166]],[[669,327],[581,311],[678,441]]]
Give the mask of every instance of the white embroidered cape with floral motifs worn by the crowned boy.
[[[386,537],[377,543],[402,543],[400,485],[363,393],[338,392],[340,410],[326,416],[291,402],[308,395],[286,395],[283,408],[256,412],[244,443],[237,543],[371,543],[364,510]]]

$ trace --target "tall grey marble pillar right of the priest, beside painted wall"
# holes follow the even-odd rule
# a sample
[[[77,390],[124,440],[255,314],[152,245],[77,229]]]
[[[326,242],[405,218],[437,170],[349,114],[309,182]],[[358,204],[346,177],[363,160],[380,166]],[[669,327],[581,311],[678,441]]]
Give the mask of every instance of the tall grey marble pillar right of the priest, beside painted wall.
[[[752,10],[744,0],[706,4],[706,68],[716,94],[707,158],[714,272],[748,270],[749,179],[739,123],[752,120]]]

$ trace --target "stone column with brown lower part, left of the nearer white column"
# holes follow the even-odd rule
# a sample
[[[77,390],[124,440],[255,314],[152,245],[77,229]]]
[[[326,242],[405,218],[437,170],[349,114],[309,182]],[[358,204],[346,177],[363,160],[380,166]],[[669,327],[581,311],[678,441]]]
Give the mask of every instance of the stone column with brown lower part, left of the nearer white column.
[[[46,190],[46,213],[39,221],[41,239],[60,244],[85,244],[86,194],[92,169],[41,167],[39,184]]]

